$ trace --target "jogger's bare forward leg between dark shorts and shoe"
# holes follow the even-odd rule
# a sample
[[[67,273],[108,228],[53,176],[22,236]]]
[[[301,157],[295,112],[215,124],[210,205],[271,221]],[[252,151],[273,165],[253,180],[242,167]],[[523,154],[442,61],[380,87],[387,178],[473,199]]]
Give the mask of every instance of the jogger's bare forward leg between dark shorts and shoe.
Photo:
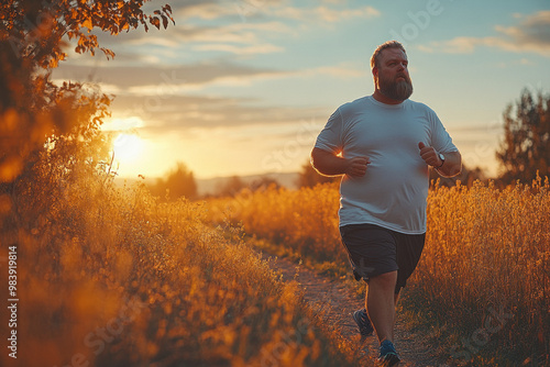
[[[366,310],[381,343],[394,341],[396,282],[397,271],[381,274],[369,280]]]

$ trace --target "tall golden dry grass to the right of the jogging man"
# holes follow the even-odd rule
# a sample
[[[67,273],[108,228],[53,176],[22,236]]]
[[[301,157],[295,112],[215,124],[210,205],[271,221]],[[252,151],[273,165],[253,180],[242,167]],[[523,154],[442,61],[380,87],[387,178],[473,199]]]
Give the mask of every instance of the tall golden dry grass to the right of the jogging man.
[[[548,179],[503,190],[436,187],[428,227],[413,282],[454,335],[451,357],[474,366],[550,364]]]

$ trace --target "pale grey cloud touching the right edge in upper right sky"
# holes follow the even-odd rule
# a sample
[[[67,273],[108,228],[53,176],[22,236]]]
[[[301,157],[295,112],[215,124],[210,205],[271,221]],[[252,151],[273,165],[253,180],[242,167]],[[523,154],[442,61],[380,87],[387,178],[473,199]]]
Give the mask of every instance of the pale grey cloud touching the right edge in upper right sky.
[[[432,42],[419,46],[425,52],[450,54],[473,53],[476,47],[494,47],[514,53],[536,53],[550,57],[550,11],[539,11],[530,15],[515,14],[520,20],[516,26],[496,25],[496,36],[454,37],[443,42]]]

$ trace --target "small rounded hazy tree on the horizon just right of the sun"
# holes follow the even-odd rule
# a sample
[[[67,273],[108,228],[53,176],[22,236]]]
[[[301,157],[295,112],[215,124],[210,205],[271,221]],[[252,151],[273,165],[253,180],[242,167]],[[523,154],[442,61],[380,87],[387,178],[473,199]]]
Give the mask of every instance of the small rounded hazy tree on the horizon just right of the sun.
[[[176,168],[169,171],[165,179],[157,179],[151,192],[162,198],[167,197],[169,200],[182,197],[194,199],[197,197],[197,184],[193,171],[184,163],[178,162]]]

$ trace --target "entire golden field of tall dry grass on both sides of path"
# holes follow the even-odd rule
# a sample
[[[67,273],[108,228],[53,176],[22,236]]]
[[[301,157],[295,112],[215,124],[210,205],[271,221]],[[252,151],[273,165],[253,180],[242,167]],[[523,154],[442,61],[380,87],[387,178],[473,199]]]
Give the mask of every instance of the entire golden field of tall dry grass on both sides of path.
[[[16,366],[356,363],[246,241],[349,273],[338,184],[166,202],[111,178],[45,154],[2,186],[2,256],[16,257]],[[541,179],[431,187],[427,245],[400,310],[438,363],[548,365],[549,189]]]

